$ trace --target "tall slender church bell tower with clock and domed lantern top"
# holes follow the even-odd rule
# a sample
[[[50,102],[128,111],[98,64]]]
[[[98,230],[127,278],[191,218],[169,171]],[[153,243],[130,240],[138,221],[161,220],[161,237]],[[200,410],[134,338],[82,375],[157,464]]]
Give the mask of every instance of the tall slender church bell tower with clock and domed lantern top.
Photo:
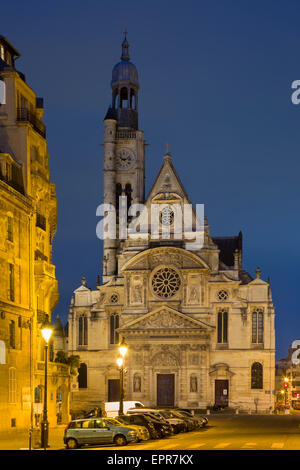
[[[104,118],[104,203],[115,207],[127,196],[127,207],[145,201],[145,141],[138,127],[139,81],[130,62],[127,32],[121,61],[112,70],[112,101]],[[118,220],[118,219],[117,219]],[[118,273],[120,240],[104,240],[103,282]]]

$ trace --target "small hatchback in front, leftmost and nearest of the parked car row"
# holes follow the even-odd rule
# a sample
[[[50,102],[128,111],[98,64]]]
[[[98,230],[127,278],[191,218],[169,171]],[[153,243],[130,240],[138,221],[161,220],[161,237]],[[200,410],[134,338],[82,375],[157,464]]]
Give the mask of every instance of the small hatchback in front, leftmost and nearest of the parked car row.
[[[136,442],[137,437],[134,428],[119,423],[112,425],[104,418],[75,419],[65,429],[64,443],[68,449],[98,444],[123,446]]]

